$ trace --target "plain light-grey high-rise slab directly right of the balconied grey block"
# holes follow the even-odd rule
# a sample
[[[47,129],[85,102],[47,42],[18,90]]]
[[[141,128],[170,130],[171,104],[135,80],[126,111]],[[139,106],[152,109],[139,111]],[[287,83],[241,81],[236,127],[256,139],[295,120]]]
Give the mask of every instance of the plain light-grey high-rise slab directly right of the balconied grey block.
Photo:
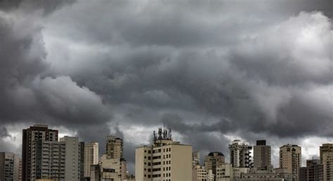
[[[65,136],[60,138],[65,143],[65,180],[80,180],[80,148],[79,138]]]

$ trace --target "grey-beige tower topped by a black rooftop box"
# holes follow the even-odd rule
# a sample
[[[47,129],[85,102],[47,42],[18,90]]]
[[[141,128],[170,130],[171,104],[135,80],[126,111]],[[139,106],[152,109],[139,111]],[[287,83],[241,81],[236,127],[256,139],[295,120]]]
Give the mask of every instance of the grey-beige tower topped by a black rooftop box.
[[[266,145],[266,140],[257,140],[256,146],[253,147],[254,169],[272,170],[270,163],[270,146]]]

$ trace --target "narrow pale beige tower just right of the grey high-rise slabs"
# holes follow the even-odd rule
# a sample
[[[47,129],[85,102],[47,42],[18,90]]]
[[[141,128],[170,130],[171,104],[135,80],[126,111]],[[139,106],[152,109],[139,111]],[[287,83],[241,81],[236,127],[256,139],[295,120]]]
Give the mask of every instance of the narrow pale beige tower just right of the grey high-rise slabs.
[[[90,177],[91,166],[98,164],[98,142],[84,145],[84,177]]]

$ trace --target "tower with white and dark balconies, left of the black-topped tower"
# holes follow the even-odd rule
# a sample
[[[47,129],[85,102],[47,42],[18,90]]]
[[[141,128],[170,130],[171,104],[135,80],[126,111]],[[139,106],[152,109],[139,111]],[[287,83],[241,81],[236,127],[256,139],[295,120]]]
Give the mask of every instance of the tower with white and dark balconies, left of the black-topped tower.
[[[250,168],[251,163],[251,150],[252,146],[249,146],[247,142],[241,142],[240,140],[233,140],[229,145],[230,150],[230,163],[233,167],[237,168]]]

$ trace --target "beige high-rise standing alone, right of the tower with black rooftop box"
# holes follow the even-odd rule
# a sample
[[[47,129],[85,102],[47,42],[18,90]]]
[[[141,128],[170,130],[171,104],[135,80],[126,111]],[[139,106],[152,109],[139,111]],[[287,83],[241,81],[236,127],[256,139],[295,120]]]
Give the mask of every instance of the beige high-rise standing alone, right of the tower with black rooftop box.
[[[299,180],[301,158],[301,147],[289,144],[280,147],[280,168],[285,168],[286,173],[294,175],[296,181]]]

